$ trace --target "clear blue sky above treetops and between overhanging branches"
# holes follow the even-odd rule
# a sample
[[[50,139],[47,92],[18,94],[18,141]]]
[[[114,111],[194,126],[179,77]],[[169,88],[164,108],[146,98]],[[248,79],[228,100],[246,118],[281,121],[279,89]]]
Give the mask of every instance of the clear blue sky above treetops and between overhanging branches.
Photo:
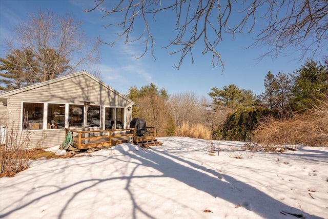
[[[12,28],[26,21],[28,13],[37,13],[45,9],[51,9],[56,14],[69,12],[74,15],[76,19],[83,22],[83,30],[89,37],[99,36],[105,41],[112,39],[115,33],[103,28],[108,24],[106,18],[101,19],[103,14],[99,11],[84,12],[84,8],[89,9],[93,6],[93,0],[0,0],[0,57],[5,56],[3,39],[10,37]],[[132,86],[140,88],[154,83],[159,89],[165,88],[169,94],[194,92],[199,96],[208,97],[213,87],[222,89],[229,84],[261,94],[264,91],[264,77],[268,71],[273,74],[292,73],[305,62],[305,58],[301,62],[295,60],[299,54],[290,51],[287,53],[288,56],[280,55],[274,60],[265,57],[258,62],[257,58],[268,48],[244,49],[252,44],[252,36],[239,34],[234,41],[231,36],[225,36],[217,48],[225,65],[223,73],[220,67],[212,68],[212,56],[202,55],[201,46],[195,48],[197,51],[193,51],[194,64],[191,63],[190,58],[187,58],[182,66],[176,69],[173,66],[178,63],[179,56],[169,55],[161,48],[168,45],[169,38],[174,37],[174,26],[170,26],[172,19],[170,21],[168,14],[156,18],[158,25],[151,27],[156,41],[154,47],[156,61],[150,53],[141,59],[136,59],[135,56],[142,54],[144,49],[144,46],[138,43],[118,42],[114,46],[101,45],[101,59],[96,68],[101,72],[102,81],[121,93],[128,92]]]

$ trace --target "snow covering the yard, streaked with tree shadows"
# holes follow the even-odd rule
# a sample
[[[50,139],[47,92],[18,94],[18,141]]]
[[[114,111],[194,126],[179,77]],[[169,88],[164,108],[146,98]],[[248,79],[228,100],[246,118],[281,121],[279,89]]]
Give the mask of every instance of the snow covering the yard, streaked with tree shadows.
[[[158,140],[150,150],[120,144],[31,161],[0,178],[0,217],[328,218],[328,148],[252,154],[220,141],[209,155],[206,140]]]

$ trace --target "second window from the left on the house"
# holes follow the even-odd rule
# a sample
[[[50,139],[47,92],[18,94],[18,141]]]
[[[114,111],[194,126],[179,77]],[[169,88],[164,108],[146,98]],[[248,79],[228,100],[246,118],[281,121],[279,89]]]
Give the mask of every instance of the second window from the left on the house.
[[[47,129],[65,128],[65,104],[48,104]]]

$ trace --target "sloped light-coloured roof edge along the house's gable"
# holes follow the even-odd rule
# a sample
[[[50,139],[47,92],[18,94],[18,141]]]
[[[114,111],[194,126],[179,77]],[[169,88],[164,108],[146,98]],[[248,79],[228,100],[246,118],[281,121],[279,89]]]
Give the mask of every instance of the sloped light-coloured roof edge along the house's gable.
[[[22,93],[22,92],[32,90],[32,89],[35,89],[35,88],[38,88],[38,87],[43,87],[43,86],[46,86],[46,85],[50,85],[50,84],[53,84],[53,83],[64,81],[66,79],[77,77],[77,76],[80,76],[80,75],[86,75],[86,76],[90,77],[90,79],[93,79],[94,81],[96,81],[97,83],[103,85],[104,87],[106,87],[107,89],[112,91],[113,93],[115,93],[118,96],[126,99],[132,105],[135,105],[135,102],[133,102],[127,96],[119,93],[117,90],[115,90],[112,87],[108,86],[106,83],[100,81],[98,78],[96,78],[95,76],[93,76],[92,74],[90,74],[89,72],[87,72],[85,70],[80,71],[80,72],[76,72],[76,73],[73,73],[73,74],[69,74],[69,75],[66,75],[66,76],[57,77],[57,78],[51,79],[49,81],[41,82],[41,83],[38,83],[38,84],[35,84],[35,85],[30,85],[30,86],[27,86],[27,87],[24,87],[24,88],[19,88],[19,89],[16,89],[16,90],[5,92],[5,93],[0,93],[0,98],[7,98],[9,96],[12,96],[12,95],[15,95],[15,94],[18,94],[18,93]]]

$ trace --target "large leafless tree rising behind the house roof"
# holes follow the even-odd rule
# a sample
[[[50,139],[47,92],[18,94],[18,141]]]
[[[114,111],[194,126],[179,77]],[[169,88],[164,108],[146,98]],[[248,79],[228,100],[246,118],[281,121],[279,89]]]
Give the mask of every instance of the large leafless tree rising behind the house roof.
[[[25,53],[19,53],[26,48],[31,50],[39,63],[39,68],[31,68],[36,82],[82,70],[97,62],[99,42],[87,38],[81,24],[73,16],[59,16],[50,10],[30,14],[28,21],[14,29],[13,37],[6,39],[8,53],[33,66]]]

